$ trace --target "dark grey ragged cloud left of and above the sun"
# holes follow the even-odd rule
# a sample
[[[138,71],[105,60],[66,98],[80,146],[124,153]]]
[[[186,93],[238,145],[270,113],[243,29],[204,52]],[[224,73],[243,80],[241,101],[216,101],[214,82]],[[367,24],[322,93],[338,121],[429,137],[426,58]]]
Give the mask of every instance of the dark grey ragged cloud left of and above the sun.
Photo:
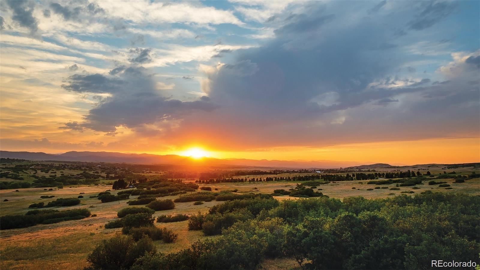
[[[62,87],[79,93],[108,93],[111,96],[98,103],[84,116],[81,126],[114,134],[117,126],[139,128],[167,120],[181,119],[196,110],[217,108],[209,98],[180,101],[160,95],[153,80],[143,67],[119,67],[116,76],[75,74]],[[68,126],[68,125],[66,125]]]

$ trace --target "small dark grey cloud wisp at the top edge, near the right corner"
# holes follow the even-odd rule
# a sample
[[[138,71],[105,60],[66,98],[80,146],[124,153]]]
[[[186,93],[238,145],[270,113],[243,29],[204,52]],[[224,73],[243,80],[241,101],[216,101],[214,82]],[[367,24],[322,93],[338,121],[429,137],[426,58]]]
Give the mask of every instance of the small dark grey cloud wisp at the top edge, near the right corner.
[[[429,28],[454,12],[457,7],[455,1],[428,1],[424,4],[422,12],[408,23],[410,29],[423,30]]]

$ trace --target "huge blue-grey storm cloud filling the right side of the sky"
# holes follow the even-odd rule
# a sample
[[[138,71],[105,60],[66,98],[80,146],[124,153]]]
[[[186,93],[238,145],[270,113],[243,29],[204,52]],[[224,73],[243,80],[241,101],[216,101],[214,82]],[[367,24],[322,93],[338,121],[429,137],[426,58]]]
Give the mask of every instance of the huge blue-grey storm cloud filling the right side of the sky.
[[[395,34],[406,20],[415,21],[413,30],[435,27],[444,18],[439,14],[450,11],[444,4],[421,3],[419,13],[425,20],[420,21],[412,15],[417,6],[392,4],[389,8],[396,12],[382,12],[384,5],[369,13],[364,3],[351,2],[346,8],[339,1],[315,2],[304,14],[277,15],[276,21],[285,25],[274,31],[274,38],[236,54],[236,62],[205,73],[204,91],[222,107],[215,114],[187,116],[170,136],[180,142],[188,139],[184,134],[198,131],[213,145],[228,140],[222,147],[232,147],[235,141],[265,147],[432,138],[455,131],[433,125],[429,118],[450,123],[457,117],[466,119],[455,123],[457,130],[478,133],[479,104],[471,101],[478,100],[479,91],[468,84],[478,74],[439,72],[444,83],[432,85],[412,65],[428,56],[405,53],[406,46],[422,37]],[[476,66],[476,55],[465,65]],[[434,115],[445,103],[448,106]],[[474,124],[462,126],[467,122]],[[430,129],[412,130],[412,123]]]

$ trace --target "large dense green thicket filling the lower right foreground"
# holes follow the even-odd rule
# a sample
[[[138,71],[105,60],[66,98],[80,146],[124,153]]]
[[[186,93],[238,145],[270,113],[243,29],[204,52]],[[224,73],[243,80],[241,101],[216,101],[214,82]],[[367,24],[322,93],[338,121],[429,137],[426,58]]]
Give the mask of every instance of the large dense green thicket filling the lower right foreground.
[[[283,200],[273,207],[259,198],[228,201],[189,220],[189,229],[214,233],[217,221],[233,222],[214,239],[174,253],[144,253],[133,263],[126,252],[117,252],[124,255],[112,254],[115,264],[94,267],[257,269],[265,258],[293,257],[301,269],[424,269],[432,254],[445,261],[477,258],[478,209],[478,196],[431,191],[384,199]]]

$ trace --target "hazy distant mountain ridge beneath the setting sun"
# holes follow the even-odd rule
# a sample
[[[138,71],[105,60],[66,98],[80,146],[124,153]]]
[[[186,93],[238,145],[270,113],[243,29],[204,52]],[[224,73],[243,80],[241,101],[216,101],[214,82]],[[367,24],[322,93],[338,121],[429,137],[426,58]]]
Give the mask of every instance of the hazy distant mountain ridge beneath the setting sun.
[[[126,154],[118,152],[69,151],[63,154],[47,154],[43,152],[0,151],[0,157],[24,160],[57,160],[85,162],[125,162],[139,164],[172,164],[172,165],[232,165],[282,168],[341,168],[360,165],[354,161],[306,161],[306,160],[249,160],[249,159],[214,159],[194,160],[178,155]],[[388,165],[388,164],[387,164]]]

